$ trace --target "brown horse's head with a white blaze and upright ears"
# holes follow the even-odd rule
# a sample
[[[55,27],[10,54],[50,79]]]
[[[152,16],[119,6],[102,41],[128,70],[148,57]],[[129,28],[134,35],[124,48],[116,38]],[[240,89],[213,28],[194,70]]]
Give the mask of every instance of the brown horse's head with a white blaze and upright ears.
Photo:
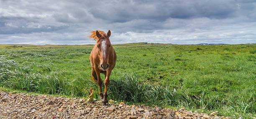
[[[108,33],[100,33],[96,30],[95,35],[97,37],[97,49],[98,49],[98,55],[100,56],[100,68],[103,71],[108,70],[109,68],[109,55],[110,55],[110,47],[111,43],[109,40],[109,37],[111,35],[110,30],[108,30]]]

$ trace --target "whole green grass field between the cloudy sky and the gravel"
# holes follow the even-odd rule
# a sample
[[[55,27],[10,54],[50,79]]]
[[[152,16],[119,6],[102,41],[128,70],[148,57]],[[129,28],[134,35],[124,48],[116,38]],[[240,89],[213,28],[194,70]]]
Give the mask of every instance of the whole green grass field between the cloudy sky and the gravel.
[[[114,45],[109,99],[256,116],[256,45]],[[0,86],[87,97],[92,45],[0,45]],[[104,75],[102,75],[103,77]]]

